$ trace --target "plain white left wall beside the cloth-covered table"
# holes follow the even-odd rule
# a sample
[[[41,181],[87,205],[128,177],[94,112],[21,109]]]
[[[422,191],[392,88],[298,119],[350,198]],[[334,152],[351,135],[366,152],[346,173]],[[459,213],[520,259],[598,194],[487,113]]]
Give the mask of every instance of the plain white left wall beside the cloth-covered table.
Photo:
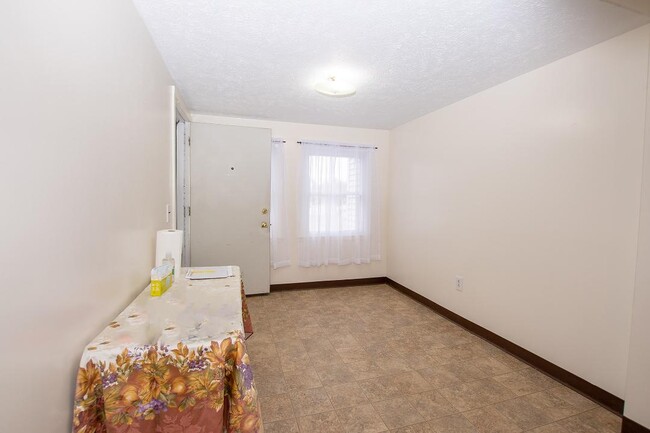
[[[0,430],[66,432],[166,226],[171,79],[129,0],[4,2],[0,32]]]

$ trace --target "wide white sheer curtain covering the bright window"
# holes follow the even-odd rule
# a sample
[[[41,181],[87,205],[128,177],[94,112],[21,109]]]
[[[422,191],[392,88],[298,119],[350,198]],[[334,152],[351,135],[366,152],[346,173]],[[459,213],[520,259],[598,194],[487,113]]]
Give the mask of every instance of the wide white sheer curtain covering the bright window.
[[[374,149],[302,142],[300,266],[379,260]]]

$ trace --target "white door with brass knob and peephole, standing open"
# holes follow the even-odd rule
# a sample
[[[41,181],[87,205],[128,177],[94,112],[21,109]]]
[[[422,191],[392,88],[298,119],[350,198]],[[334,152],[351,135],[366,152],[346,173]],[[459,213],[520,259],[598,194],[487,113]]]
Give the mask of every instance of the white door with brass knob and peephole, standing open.
[[[271,130],[192,123],[191,266],[238,265],[269,292]]]

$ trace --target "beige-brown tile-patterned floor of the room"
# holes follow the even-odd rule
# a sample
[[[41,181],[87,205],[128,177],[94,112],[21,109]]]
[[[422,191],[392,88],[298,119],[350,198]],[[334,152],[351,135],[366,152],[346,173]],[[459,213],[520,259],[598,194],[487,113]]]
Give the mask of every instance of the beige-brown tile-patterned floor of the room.
[[[266,433],[617,433],[620,418],[385,285],[248,298]]]

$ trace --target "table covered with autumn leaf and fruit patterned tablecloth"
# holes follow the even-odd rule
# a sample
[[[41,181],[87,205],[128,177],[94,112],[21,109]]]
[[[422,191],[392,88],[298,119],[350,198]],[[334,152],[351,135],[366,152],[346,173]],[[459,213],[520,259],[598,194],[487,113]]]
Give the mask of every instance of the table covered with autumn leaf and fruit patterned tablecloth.
[[[234,276],[147,287],[86,346],[74,402],[78,433],[263,432]]]

